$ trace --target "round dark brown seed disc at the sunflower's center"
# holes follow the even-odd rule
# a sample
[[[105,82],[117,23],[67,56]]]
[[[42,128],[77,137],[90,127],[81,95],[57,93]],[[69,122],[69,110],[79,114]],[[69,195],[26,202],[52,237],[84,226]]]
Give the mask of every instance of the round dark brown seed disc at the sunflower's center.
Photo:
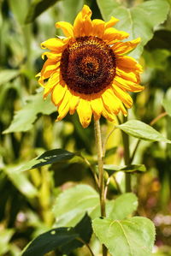
[[[92,94],[115,77],[115,54],[102,39],[82,37],[62,52],[62,79],[74,92]]]

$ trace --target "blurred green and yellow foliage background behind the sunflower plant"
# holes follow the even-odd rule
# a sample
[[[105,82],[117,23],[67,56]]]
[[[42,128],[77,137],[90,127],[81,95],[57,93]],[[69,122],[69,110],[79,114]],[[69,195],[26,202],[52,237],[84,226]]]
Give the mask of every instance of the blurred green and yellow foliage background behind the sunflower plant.
[[[131,39],[139,36],[142,38],[141,45],[131,55],[139,59],[144,67],[142,84],[145,90],[133,95],[133,109],[129,110],[128,119],[138,119],[150,124],[156,116],[167,111],[166,116],[154,124],[154,128],[171,140],[171,89],[169,89],[171,2],[169,0],[1,0],[0,255],[2,256],[19,255],[32,238],[52,228],[55,217],[63,221],[65,205],[59,206],[61,213],[55,210],[56,206],[52,211],[56,197],[60,194],[57,204],[62,199],[62,191],[72,188],[76,183],[95,185],[91,171],[78,154],[68,153],[63,157],[63,152],[60,152],[62,157],[50,158],[50,165],[36,166],[37,168],[28,170],[32,165],[38,164],[32,158],[56,148],[63,148],[69,152],[81,151],[92,163],[96,160],[93,124],[91,123],[89,128],[82,128],[76,114],[67,116],[62,122],[55,122],[56,108],[51,104],[50,98],[44,102],[41,88],[35,79],[35,74],[43,64],[40,57],[43,52],[39,47],[40,43],[55,35],[62,35],[60,30],[56,30],[55,22],[73,22],[84,3],[91,7],[93,18],[103,18],[108,21],[110,16],[114,15],[121,20],[117,27],[130,33]],[[101,122],[104,137],[113,125],[104,119]],[[137,127],[137,123],[135,126]],[[140,128],[142,128],[141,124]],[[130,140],[133,151],[137,139],[131,137]],[[107,149],[105,164],[123,165],[123,146],[118,129],[110,137]],[[27,163],[30,160],[32,161]],[[163,140],[162,142],[141,141],[133,164],[144,164],[147,170],[143,174],[133,174],[133,192],[139,197],[137,215],[149,217],[156,224],[154,255],[171,255],[170,144],[164,143]],[[124,191],[122,176],[117,173],[115,176],[118,178],[121,191],[118,190],[115,179],[111,180],[109,199],[114,199]],[[65,199],[64,196],[63,201]],[[80,217],[83,215],[81,211]],[[98,255],[97,240],[93,238],[91,245]],[[86,253],[83,247],[71,255],[88,255]],[[56,255],[61,254],[56,253]]]

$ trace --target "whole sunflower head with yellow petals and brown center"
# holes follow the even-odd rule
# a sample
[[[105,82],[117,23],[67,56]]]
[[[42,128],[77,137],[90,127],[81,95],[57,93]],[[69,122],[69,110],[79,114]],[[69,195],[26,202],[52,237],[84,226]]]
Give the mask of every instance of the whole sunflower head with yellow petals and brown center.
[[[128,92],[140,92],[142,67],[125,54],[132,51],[140,39],[121,42],[128,33],[113,26],[119,20],[111,17],[108,22],[91,21],[91,9],[84,5],[76,16],[74,26],[65,21],[56,22],[66,36],[53,38],[41,44],[46,61],[39,76],[39,84],[44,86],[44,98],[51,93],[51,100],[57,106],[62,120],[68,112],[75,110],[80,122],[86,128],[91,116],[98,120],[104,116],[115,121],[120,111],[127,116],[133,100]]]

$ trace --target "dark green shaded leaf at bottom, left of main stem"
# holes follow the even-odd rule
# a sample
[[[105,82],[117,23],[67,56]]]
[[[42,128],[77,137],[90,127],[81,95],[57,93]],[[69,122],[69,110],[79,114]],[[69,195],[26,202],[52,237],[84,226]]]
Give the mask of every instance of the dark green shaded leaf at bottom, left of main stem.
[[[63,254],[71,253],[75,248],[82,247],[91,239],[91,219],[87,215],[74,228],[51,229],[33,240],[22,253],[22,256],[43,256],[58,249]],[[80,241],[81,239],[81,241]]]

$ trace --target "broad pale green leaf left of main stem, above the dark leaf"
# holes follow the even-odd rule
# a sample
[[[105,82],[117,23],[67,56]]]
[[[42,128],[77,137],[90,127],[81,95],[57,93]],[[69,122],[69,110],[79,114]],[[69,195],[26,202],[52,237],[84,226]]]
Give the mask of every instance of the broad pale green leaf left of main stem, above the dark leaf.
[[[99,207],[99,195],[93,188],[87,185],[69,188],[56,198],[53,208],[56,226],[74,226],[86,211],[91,215],[97,207]]]

